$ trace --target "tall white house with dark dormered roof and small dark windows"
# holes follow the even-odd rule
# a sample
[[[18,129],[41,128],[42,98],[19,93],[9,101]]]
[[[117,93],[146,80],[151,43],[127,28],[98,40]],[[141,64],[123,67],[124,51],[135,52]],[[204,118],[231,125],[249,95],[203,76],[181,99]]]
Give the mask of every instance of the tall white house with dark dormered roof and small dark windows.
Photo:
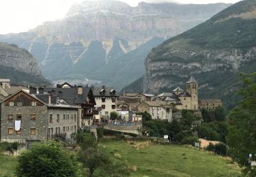
[[[92,87],[96,108],[99,108],[100,120],[97,122],[109,122],[110,113],[117,112],[117,92],[111,87]],[[100,109],[101,108],[101,109]]]

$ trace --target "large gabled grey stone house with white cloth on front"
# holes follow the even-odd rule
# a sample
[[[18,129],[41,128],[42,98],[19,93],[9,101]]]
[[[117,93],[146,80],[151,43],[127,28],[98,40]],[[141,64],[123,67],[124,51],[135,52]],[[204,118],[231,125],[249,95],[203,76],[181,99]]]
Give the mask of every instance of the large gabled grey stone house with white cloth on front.
[[[68,139],[77,131],[79,107],[51,94],[44,97],[20,90],[1,101],[1,142],[18,142],[29,148],[36,141]],[[64,114],[72,119],[67,121]]]

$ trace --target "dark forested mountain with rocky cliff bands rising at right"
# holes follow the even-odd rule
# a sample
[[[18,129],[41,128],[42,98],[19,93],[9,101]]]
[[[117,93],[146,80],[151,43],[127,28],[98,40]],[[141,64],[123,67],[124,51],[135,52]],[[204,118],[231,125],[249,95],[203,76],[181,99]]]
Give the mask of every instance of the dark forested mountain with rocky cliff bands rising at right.
[[[143,91],[184,87],[193,75],[199,82],[199,97],[221,98],[229,108],[235,106],[240,72],[256,71],[255,29],[256,1],[244,0],[168,39],[147,55]]]

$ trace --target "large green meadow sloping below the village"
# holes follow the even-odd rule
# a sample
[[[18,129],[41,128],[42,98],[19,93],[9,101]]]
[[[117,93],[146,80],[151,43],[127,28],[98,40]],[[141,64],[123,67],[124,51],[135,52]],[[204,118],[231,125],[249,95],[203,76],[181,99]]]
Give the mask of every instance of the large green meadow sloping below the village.
[[[152,144],[140,150],[127,142],[102,142],[137,171],[131,176],[240,176],[240,168],[210,152],[185,146]]]

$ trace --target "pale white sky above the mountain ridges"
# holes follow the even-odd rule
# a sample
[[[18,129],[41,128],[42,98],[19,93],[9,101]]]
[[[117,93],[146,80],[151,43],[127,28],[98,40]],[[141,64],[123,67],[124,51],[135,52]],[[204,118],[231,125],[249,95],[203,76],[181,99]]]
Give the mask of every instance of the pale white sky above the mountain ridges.
[[[45,21],[61,19],[74,3],[86,0],[1,0],[0,34],[20,33]],[[91,1],[91,0],[90,0]],[[94,0],[92,0],[94,1]],[[96,1],[96,0],[95,0]],[[106,0],[108,1],[108,0]],[[137,6],[143,0],[119,0]],[[240,0],[144,0],[149,3],[236,3]]]

